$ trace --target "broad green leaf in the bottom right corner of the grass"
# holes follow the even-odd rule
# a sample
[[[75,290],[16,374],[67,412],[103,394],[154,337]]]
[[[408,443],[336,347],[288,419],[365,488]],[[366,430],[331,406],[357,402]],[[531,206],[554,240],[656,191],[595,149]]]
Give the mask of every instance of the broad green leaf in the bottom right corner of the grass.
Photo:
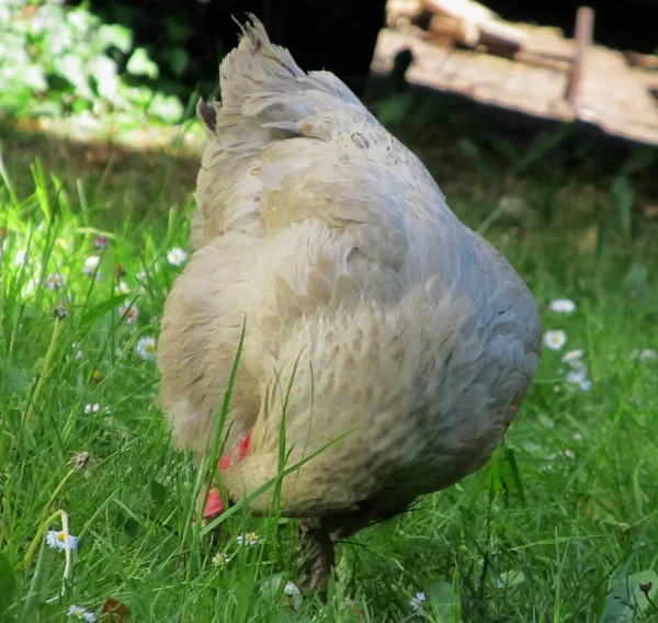
[[[655,602],[658,596],[658,575],[655,571],[648,569],[619,578],[608,596],[601,623],[636,621],[638,614],[653,609],[647,594]]]

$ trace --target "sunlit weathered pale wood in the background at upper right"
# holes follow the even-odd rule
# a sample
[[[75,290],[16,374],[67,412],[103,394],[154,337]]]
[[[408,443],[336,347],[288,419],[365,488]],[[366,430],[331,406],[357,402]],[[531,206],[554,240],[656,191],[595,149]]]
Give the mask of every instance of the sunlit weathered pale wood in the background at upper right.
[[[410,49],[413,63],[406,72],[410,84],[460,93],[537,117],[580,118],[610,134],[658,145],[658,105],[650,92],[657,86],[654,71],[628,66],[622,53],[592,45],[587,72],[580,79],[578,105],[574,105],[565,99],[576,50],[574,41],[564,39],[555,29],[520,27],[529,37],[514,58],[520,56],[524,63],[472,49],[439,47],[431,38],[423,39],[418,27],[384,29],[372,69],[387,73],[395,55]]]

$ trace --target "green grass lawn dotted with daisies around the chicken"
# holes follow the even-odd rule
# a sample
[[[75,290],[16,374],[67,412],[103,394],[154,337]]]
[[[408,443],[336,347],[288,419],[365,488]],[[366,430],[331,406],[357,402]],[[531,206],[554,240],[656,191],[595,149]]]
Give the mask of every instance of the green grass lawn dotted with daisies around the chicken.
[[[100,615],[113,598],[135,622],[397,622],[420,620],[409,600],[421,591],[426,620],[436,622],[658,620],[638,589],[653,576],[634,576],[658,571],[658,361],[631,356],[658,350],[658,227],[640,216],[632,231],[623,226],[629,209],[655,201],[651,182],[557,157],[521,172],[431,133],[416,144],[453,209],[475,228],[487,223],[487,237],[532,287],[545,328],[563,329],[567,343],[544,351],[489,466],[341,544],[327,604],[307,596],[299,611],[283,590],[260,590],[295,579],[294,522],[237,512],[215,536],[191,523],[200,477],[191,456],[171,449],[156,365],[136,351],[140,338],[157,338],[182,270],[167,252],[188,248],[194,171],[135,156],[128,174],[117,161],[48,158],[58,152],[52,145],[35,149],[45,165],[26,149],[5,150],[0,620],[65,621],[72,603]],[[180,171],[189,173],[172,183]],[[490,218],[502,195],[521,200],[520,214]],[[82,272],[92,254],[101,257],[98,279]],[[64,285],[50,290],[56,273]],[[576,312],[552,313],[557,297]],[[126,305],[138,310],[132,324],[120,313]],[[590,390],[566,381],[560,359],[570,349],[585,351]],[[71,456],[81,452],[89,462],[77,469]],[[65,554],[42,539],[60,529],[60,514],[47,521],[59,510],[79,539],[64,593]],[[240,547],[237,536],[250,531],[262,544]],[[230,556],[224,567],[213,563],[217,553]],[[657,588],[658,578],[654,603]]]

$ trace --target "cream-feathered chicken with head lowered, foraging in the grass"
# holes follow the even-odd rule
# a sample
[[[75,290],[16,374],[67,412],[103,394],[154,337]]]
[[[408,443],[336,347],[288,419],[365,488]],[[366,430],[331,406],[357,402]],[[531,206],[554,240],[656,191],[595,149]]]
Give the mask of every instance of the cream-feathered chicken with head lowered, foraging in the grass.
[[[194,252],[164,305],[160,398],[200,461],[243,331],[218,480],[236,502],[282,478],[315,588],[336,540],[485,465],[534,376],[540,314],[332,73],[302,71],[253,16],[219,71],[222,104],[197,107]],[[222,510],[211,491],[205,516]]]

